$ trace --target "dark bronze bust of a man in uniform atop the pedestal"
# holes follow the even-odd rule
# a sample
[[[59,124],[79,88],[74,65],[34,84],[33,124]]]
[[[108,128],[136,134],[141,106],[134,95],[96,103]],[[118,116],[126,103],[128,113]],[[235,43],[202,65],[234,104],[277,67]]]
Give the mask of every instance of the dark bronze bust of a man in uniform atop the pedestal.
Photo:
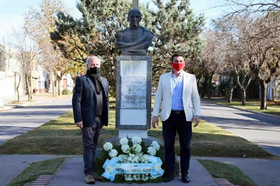
[[[146,56],[146,51],[153,41],[153,33],[148,28],[139,26],[141,16],[139,10],[129,10],[129,27],[115,34],[115,43],[123,56]]]

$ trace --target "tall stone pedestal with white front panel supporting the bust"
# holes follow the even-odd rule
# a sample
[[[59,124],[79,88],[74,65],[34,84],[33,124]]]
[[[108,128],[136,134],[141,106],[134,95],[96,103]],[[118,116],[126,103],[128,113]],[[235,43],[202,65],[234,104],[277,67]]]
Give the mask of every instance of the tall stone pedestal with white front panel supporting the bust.
[[[116,57],[116,128],[119,138],[148,138],[151,122],[150,56]]]

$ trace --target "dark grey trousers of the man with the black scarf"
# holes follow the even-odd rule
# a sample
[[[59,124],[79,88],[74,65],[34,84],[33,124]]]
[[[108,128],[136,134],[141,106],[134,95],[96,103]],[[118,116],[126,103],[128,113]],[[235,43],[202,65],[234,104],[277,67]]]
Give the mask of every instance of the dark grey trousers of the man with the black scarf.
[[[95,172],[95,153],[98,145],[98,137],[102,132],[102,123],[100,123],[99,118],[96,117],[95,121],[96,125],[85,126],[82,128],[85,175],[89,175]]]

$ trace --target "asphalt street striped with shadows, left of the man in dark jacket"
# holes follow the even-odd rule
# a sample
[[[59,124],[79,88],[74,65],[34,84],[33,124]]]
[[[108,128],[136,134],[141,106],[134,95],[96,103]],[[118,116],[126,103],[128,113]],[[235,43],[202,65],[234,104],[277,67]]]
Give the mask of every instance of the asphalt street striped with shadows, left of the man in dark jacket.
[[[0,144],[72,110],[71,98],[38,97],[37,101],[36,105],[0,112]]]

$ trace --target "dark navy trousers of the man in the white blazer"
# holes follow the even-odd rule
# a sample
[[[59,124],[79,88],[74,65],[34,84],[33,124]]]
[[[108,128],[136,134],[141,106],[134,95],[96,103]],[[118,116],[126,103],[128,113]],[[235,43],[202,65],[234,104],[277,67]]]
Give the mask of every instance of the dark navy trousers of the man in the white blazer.
[[[169,118],[162,121],[162,134],[164,140],[164,158],[167,173],[174,173],[175,164],[175,136],[179,135],[180,141],[180,166],[182,176],[188,175],[190,167],[190,141],[192,138],[192,122],[186,121],[184,111],[176,113],[171,111]]]

